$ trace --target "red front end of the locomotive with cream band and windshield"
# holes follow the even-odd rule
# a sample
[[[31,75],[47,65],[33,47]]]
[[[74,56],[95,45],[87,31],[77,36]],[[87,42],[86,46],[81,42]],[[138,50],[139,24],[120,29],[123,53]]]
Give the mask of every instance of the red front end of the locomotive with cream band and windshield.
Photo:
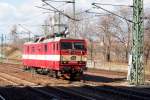
[[[86,69],[86,42],[84,40],[63,40],[60,48],[60,66],[63,73],[81,76]]]

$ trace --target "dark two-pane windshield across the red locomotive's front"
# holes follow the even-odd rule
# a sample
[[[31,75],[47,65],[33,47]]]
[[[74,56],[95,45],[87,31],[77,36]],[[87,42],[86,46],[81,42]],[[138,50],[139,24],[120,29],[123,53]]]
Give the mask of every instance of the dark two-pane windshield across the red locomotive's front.
[[[83,42],[61,42],[61,49],[75,49],[75,50],[84,50]]]

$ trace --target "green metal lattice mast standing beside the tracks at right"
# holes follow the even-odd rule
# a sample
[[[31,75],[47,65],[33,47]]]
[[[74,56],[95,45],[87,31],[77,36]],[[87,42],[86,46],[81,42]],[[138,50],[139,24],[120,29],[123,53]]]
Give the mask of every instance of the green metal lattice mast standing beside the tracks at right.
[[[143,65],[143,0],[133,0],[133,33],[132,33],[132,67],[130,74],[130,84],[144,84]]]

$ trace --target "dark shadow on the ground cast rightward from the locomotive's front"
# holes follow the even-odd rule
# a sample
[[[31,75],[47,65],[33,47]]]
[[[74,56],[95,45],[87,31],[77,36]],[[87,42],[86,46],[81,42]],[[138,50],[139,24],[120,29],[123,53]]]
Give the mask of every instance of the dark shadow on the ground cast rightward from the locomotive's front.
[[[88,75],[88,74],[85,74],[83,77],[83,80],[85,81],[105,82],[105,83],[123,81],[125,79],[126,78],[108,78],[108,77]]]

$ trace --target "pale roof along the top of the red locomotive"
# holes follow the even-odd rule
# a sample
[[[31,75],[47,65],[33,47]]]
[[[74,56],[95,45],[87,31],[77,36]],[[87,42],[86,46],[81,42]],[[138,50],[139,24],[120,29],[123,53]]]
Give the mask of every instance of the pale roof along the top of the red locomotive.
[[[44,39],[43,41],[40,41],[41,39],[39,39],[38,41],[26,42],[24,44],[38,44],[38,43],[56,42],[60,40],[83,40],[83,39],[77,39],[77,38],[64,38],[64,37],[55,37],[55,38]]]

